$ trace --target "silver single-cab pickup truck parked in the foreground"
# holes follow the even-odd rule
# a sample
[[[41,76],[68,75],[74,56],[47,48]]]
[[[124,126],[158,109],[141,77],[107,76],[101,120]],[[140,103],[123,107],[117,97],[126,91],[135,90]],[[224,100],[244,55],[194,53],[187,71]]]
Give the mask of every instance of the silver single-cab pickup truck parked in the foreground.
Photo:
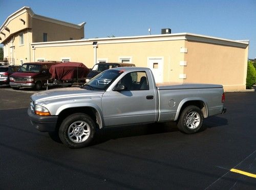
[[[221,85],[156,85],[148,68],[119,67],[80,88],[32,95],[28,115],[39,131],[81,148],[103,127],[177,121],[180,131],[195,133],[203,129],[204,118],[226,112],[224,101]]]

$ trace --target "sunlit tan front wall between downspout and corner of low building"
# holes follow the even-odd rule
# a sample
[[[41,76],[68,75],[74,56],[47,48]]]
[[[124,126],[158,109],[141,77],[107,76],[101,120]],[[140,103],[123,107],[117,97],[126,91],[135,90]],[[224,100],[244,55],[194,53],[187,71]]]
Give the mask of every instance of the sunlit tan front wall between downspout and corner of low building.
[[[147,67],[147,58],[163,57],[163,80],[165,82],[181,82],[179,73],[183,68],[179,62],[184,59],[180,47],[184,40],[136,42],[119,44],[99,44],[97,58],[109,58],[109,62],[119,62],[119,57],[132,57],[132,63],[137,67]]]

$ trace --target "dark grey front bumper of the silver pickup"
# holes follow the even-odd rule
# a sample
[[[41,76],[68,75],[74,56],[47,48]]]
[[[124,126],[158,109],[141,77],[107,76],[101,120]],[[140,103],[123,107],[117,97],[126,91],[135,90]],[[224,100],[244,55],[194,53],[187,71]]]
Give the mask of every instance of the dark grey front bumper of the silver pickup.
[[[56,129],[58,116],[39,116],[32,113],[28,108],[28,115],[31,124],[41,132],[53,132]]]

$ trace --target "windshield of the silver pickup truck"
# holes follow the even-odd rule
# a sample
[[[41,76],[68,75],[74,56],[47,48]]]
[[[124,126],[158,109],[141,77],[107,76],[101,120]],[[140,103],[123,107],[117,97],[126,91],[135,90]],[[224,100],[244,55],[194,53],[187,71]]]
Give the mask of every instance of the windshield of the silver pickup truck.
[[[121,73],[122,71],[105,70],[84,84],[82,88],[88,90],[106,90]]]

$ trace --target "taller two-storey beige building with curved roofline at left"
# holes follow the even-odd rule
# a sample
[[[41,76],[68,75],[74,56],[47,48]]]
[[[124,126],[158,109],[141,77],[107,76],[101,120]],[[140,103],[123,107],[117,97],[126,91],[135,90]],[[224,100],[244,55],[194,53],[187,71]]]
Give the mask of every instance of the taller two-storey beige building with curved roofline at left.
[[[34,14],[23,7],[11,14],[0,28],[0,43],[4,44],[4,59],[10,64],[31,61],[33,42],[78,40],[84,38],[84,24],[72,24]]]

